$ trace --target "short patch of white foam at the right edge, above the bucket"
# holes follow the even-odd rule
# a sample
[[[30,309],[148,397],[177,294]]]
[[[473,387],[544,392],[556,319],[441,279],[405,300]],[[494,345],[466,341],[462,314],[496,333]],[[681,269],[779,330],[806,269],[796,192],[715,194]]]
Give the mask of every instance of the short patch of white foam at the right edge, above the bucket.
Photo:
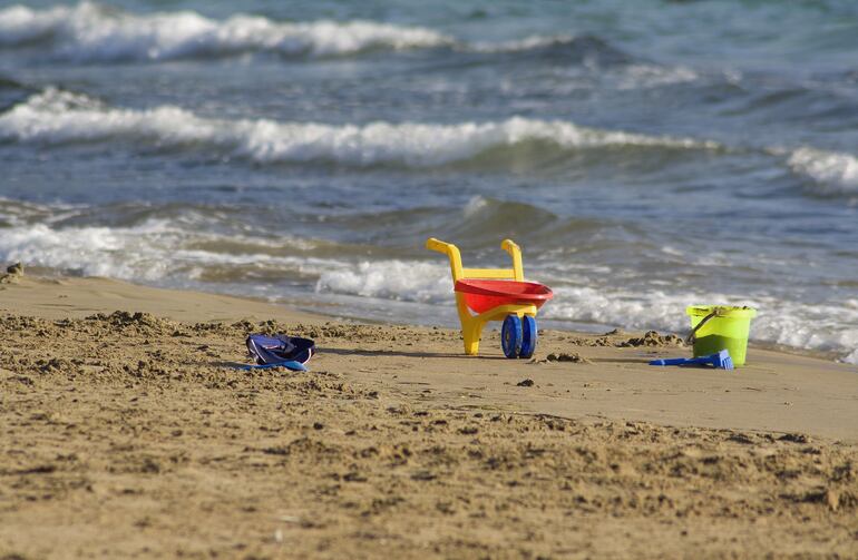
[[[822,195],[858,195],[858,157],[838,151],[799,148],[787,164],[800,175],[813,179]]]

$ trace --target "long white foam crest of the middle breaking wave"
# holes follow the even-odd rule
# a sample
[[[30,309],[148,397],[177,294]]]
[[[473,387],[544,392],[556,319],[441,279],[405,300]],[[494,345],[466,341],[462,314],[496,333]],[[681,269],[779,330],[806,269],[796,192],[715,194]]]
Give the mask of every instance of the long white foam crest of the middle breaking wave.
[[[495,122],[435,125],[370,122],[363,126],[218,120],[162,106],[118,109],[76,94],[49,88],[0,115],[0,140],[42,145],[146,141],[162,148],[201,146],[224,157],[259,163],[335,161],[371,166],[429,167],[468,159],[495,147],[528,140],[563,148],[662,147],[715,149],[691,138],[647,136],[579,127],[560,120],[513,117]]]

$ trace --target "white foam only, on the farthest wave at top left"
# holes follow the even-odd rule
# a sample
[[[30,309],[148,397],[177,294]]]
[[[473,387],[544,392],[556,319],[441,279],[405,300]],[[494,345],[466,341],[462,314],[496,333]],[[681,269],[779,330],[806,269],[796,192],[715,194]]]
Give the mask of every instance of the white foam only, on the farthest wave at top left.
[[[0,10],[0,46],[50,41],[56,56],[80,61],[164,60],[250,51],[332,56],[367,49],[448,45],[431,29],[373,21],[276,22],[238,14],[217,21],[193,11],[131,14],[82,2]]]

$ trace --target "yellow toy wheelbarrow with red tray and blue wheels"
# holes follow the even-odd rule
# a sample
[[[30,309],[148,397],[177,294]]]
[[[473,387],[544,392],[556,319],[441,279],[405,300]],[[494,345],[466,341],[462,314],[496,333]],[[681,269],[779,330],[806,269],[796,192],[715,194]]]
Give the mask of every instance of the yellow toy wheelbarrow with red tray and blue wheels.
[[[518,245],[510,239],[500,244],[500,248],[513,257],[513,268],[462,268],[459,248],[435,237],[426,242],[426,248],[450,257],[465,353],[477,355],[486,323],[503,321],[500,344],[504,354],[507,357],[533,356],[537,338],[536,312],[554,293],[547,286],[524,281]]]

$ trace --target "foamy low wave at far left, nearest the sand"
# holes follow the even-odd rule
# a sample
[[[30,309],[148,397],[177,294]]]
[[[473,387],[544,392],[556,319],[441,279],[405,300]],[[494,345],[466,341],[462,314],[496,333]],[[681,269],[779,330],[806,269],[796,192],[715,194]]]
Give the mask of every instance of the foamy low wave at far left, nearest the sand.
[[[61,208],[58,208],[61,209]],[[192,230],[183,219],[149,218],[126,227],[74,226],[17,220],[0,229],[0,262],[22,262],[66,274],[135,282],[275,281],[348,266],[315,257],[315,243]],[[250,282],[248,282],[250,281]]]

